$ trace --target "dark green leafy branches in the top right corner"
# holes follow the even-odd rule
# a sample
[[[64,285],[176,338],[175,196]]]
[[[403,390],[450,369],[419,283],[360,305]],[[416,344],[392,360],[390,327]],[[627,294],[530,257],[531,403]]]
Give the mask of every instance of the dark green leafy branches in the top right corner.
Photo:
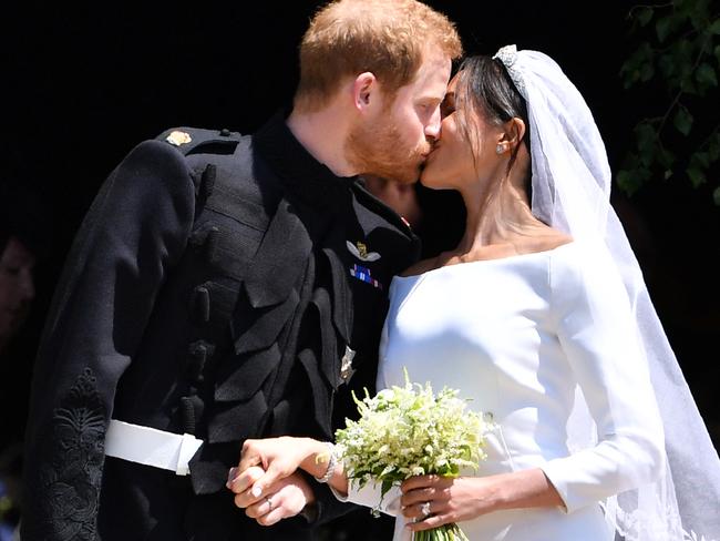
[[[620,68],[628,91],[662,92],[664,109],[635,126],[617,174],[628,195],[654,180],[710,184],[720,206],[720,13],[711,0],[672,0],[628,12],[637,43]]]

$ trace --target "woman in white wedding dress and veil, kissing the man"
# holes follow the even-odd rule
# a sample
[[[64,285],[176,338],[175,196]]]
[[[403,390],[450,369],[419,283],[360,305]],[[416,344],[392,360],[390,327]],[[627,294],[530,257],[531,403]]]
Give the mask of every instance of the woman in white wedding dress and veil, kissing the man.
[[[609,205],[584,99],[551,58],[510,45],[466,59],[443,109],[421,182],[460,192],[466,229],[393,279],[378,389],[408,368],[497,429],[476,473],[385,496],[393,539],[449,522],[483,541],[720,539],[720,462]],[[326,451],[248,440],[237,506],[279,520],[272,484],[300,467],[377,507],[379,488],[348,483]]]

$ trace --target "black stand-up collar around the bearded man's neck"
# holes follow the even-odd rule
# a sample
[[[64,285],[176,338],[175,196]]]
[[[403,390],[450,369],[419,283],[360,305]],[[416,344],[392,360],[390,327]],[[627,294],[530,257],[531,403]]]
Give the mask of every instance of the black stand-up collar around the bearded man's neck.
[[[277,112],[253,135],[253,146],[288,190],[304,203],[325,206],[347,196],[358,176],[337,176],[318,162],[286,124],[286,113]]]

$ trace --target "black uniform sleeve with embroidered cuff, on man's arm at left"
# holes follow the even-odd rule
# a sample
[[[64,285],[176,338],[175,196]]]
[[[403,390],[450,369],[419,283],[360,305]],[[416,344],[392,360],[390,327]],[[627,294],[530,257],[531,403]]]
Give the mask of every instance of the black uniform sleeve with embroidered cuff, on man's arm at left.
[[[120,377],[191,233],[179,152],[137,145],[95,197],[68,255],[34,368],[23,541],[95,539],[104,435]]]

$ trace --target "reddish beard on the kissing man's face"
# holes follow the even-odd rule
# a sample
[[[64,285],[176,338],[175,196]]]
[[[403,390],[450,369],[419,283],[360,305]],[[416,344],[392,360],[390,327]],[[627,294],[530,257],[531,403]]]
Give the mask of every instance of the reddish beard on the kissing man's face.
[[[356,171],[403,184],[419,178],[421,165],[431,149],[426,141],[419,145],[405,143],[400,130],[391,122],[356,125],[346,141],[346,154]]]

